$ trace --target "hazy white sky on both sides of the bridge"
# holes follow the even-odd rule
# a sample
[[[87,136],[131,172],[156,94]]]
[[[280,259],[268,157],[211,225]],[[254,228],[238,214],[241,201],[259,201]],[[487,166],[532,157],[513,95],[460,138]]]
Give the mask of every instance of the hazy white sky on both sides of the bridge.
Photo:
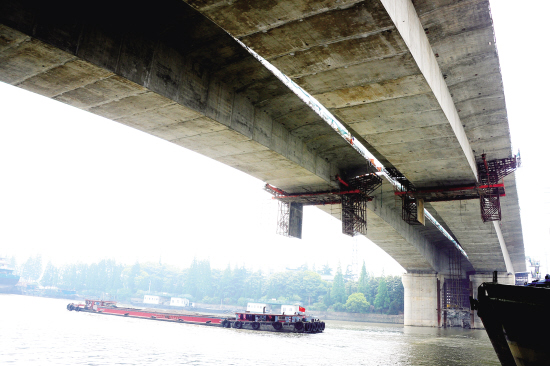
[[[491,1],[512,140],[522,155],[517,179],[526,252],[545,262],[550,4],[529,3]],[[180,266],[197,256],[219,268],[230,262],[281,269],[351,264],[356,242],[368,270],[404,272],[312,207],[304,214],[304,239],[275,235],[276,203],[263,183],[214,160],[2,83],[0,106],[0,254],[22,261],[41,253],[58,264],[161,258]]]

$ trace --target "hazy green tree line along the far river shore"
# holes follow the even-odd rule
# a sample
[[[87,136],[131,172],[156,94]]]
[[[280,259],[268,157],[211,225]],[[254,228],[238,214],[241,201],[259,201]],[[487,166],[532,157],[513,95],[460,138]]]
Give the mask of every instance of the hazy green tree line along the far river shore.
[[[300,303],[313,311],[400,314],[404,290],[400,276],[374,276],[363,262],[359,276],[351,266],[345,271],[328,264],[316,269],[303,265],[277,272],[250,270],[245,265],[225,269],[209,260],[193,259],[187,268],[163,263],[97,263],[45,266],[41,256],[18,265],[11,259],[20,282],[43,289],[76,291],[84,297],[111,298],[120,302],[146,294],[187,298],[212,305],[246,306],[248,302]]]

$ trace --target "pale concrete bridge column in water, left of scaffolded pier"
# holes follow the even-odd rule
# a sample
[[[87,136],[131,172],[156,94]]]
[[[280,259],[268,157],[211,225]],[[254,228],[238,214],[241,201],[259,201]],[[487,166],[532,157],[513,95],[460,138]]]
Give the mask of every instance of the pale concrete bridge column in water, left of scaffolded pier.
[[[401,280],[405,289],[404,324],[439,326],[441,305],[437,300],[443,286],[443,276],[436,273],[405,273]]]

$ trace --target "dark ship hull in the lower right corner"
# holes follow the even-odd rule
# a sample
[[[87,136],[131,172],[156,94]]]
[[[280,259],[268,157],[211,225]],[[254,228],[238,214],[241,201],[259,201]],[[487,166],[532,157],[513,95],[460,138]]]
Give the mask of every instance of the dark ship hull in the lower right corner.
[[[550,287],[484,283],[472,308],[502,365],[550,365]]]

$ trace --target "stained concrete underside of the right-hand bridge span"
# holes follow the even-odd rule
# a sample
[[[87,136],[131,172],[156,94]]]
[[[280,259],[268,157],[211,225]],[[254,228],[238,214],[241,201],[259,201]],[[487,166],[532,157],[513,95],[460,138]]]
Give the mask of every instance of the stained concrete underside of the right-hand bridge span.
[[[511,154],[488,0],[187,2],[312,93],[417,187],[473,184],[474,156]],[[514,270],[521,271],[513,177],[506,183],[502,232]],[[456,216],[462,214],[451,206],[429,209],[461,233],[465,226]],[[485,227],[479,209],[468,215],[474,232]],[[488,230],[467,240],[467,246],[487,243],[482,252],[492,256],[476,269],[503,268],[495,242]]]

